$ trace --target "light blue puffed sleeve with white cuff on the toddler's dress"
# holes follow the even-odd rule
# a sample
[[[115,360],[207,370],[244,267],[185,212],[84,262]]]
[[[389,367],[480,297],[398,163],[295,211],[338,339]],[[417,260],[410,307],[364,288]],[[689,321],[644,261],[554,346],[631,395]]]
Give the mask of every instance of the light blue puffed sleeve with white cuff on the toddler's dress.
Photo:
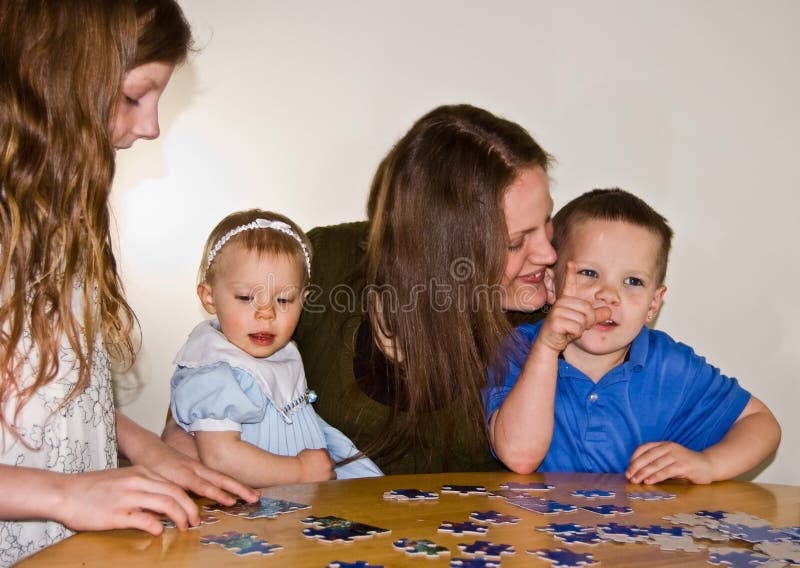
[[[172,416],[189,432],[241,432],[264,418],[267,401],[255,381],[226,363],[178,367],[170,383]]]

